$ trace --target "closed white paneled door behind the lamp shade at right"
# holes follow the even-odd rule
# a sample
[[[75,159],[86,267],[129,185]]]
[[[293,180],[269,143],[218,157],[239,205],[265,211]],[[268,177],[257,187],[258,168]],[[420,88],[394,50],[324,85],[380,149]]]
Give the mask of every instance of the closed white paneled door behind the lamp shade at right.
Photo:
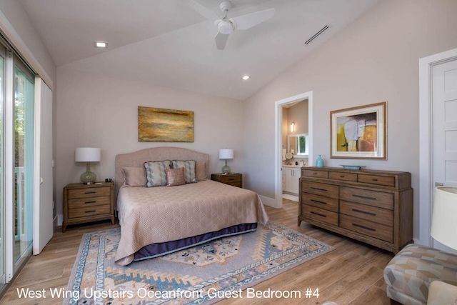
[[[433,66],[433,183],[457,187],[457,60]],[[432,246],[451,251],[433,240]]]

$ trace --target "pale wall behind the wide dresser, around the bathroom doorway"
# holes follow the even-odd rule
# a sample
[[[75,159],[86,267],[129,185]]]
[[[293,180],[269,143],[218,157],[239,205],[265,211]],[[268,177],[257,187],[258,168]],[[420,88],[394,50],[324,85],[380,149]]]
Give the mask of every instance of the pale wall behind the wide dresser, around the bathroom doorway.
[[[244,143],[246,147],[256,147],[256,151],[246,149],[249,175],[245,185],[274,198],[275,101],[313,91],[311,145],[316,156],[322,155],[326,166],[341,163],[341,159],[329,159],[330,111],[387,101],[388,159],[345,163],[411,172],[414,237],[418,238],[418,59],[457,47],[456,16],[454,0],[381,1],[251,96],[244,108]]]

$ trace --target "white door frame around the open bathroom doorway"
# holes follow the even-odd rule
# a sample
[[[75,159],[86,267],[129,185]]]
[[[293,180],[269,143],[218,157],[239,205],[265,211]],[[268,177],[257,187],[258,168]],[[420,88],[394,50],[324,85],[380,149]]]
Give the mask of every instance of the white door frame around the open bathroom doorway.
[[[275,121],[275,158],[274,158],[274,185],[275,185],[275,208],[281,209],[283,206],[283,196],[282,196],[282,174],[281,174],[281,164],[282,164],[282,126],[283,126],[283,116],[282,116],[282,106],[286,104],[295,103],[296,101],[303,101],[303,99],[308,99],[308,142],[311,143],[308,154],[308,161],[313,160],[313,91],[304,92],[296,96],[290,96],[286,99],[281,99],[274,103],[274,121]]]

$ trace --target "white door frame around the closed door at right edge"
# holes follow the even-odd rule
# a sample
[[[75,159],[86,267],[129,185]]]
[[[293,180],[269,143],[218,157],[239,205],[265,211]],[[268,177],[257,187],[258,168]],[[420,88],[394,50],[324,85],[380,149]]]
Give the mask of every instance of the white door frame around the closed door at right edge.
[[[457,59],[457,49],[419,59],[419,240],[418,244],[432,246],[430,235],[433,180],[433,66]]]

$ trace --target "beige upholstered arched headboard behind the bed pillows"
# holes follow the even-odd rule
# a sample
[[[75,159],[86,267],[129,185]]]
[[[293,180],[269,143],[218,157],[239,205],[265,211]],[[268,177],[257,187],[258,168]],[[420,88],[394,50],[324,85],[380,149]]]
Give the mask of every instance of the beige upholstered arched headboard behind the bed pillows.
[[[195,160],[204,161],[206,168],[206,177],[209,176],[209,155],[202,154],[190,149],[181,149],[178,147],[154,147],[151,149],[142,149],[129,154],[116,155],[116,192],[124,184],[123,167],[143,167],[147,161],[164,161],[164,160]]]

